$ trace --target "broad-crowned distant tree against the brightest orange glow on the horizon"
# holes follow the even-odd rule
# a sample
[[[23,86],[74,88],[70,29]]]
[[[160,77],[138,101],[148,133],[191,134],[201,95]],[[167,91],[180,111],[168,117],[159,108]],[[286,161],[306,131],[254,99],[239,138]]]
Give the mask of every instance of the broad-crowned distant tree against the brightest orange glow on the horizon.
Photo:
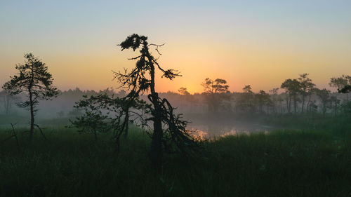
[[[227,81],[224,79],[212,80],[206,78],[204,83],[201,83],[204,87],[204,93],[206,95],[206,102],[208,104],[208,110],[210,112],[216,113],[218,109],[223,105],[223,101],[230,100],[230,93],[227,85]]]

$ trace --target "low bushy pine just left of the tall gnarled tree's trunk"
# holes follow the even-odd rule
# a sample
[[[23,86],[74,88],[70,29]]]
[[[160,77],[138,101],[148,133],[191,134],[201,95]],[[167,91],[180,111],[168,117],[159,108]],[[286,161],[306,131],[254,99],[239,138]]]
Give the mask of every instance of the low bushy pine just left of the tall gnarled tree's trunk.
[[[140,116],[148,114],[150,104],[144,100],[135,97],[134,100],[128,101],[123,97],[114,97],[103,93],[100,95],[83,96],[82,100],[76,102],[75,109],[84,111],[84,114],[77,116],[76,120],[71,121],[72,125],[81,128],[80,131],[93,132],[95,139],[97,133],[113,131],[114,139],[119,149],[119,138],[124,133],[128,136],[129,123],[135,123]],[[138,110],[137,113],[135,110]],[[143,121],[143,119],[142,119]],[[135,124],[144,125],[145,121]]]

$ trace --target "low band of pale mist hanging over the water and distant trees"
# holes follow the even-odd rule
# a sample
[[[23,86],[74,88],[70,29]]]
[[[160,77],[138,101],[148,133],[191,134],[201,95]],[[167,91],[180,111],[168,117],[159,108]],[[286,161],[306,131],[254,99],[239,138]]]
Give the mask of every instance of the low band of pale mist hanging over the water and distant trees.
[[[36,122],[42,126],[62,127],[70,125],[69,119],[74,120],[84,111],[74,108],[74,104],[83,98],[83,95],[116,95],[123,97],[124,90],[117,91],[107,88],[106,90],[74,90],[63,91],[53,100],[39,102],[36,114]],[[265,102],[260,102],[259,93],[221,93],[216,97],[209,97],[206,93],[159,93],[160,97],[166,98],[173,107],[176,114],[183,114],[183,120],[189,121],[187,129],[195,130],[206,137],[218,135],[234,135],[237,133],[267,132],[270,130],[294,130],[303,128],[302,125],[285,124],[282,119],[274,121],[274,118],[283,116],[291,117],[329,117],[336,113],[345,113],[345,106],[349,102],[349,94],[331,93],[327,103],[326,111],[323,112],[323,103],[316,94],[307,98],[305,108],[302,102],[296,102],[296,111],[289,112],[289,95],[286,93],[266,94]],[[261,94],[262,95],[262,94]],[[334,109],[332,98],[337,99],[337,109]],[[147,101],[146,95],[141,98]],[[29,111],[16,106],[16,102],[25,100],[25,95],[11,97],[4,92],[1,94],[0,102],[0,126],[9,127],[10,123],[18,126],[28,126]],[[213,102],[214,101],[214,102]],[[291,104],[292,105],[292,104]],[[302,110],[303,113],[302,113]]]

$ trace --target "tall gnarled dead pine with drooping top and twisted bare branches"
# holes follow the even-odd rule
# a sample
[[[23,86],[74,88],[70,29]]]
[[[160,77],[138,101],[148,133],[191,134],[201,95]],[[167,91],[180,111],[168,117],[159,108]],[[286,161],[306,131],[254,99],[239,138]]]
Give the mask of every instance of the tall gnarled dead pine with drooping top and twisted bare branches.
[[[186,130],[187,121],[180,120],[180,115],[173,114],[173,107],[166,99],[161,99],[155,90],[155,70],[159,69],[162,76],[167,79],[174,79],[180,74],[174,69],[163,69],[150,53],[150,47],[154,47],[157,54],[159,47],[147,42],[147,36],[139,36],[133,34],[119,44],[121,50],[132,48],[133,51],[140,49],[140,55],[130,60],[137,60],[135,67],[128,72],[124,69],[124,73],[115,72],[115,79],[121,84],[121,87],[129,90],[125,100],[133,101],[143,93],[147,95],[148,100],[152,103],[150,106],[151,117],[146,121],[152,121],[152,130],[150,134],[152,138],[150,159],[152,167],[160,169],[162,165],[163,151],[172,151],[177,149],[185,154],[189,154],[199,147],[197,139],[190,136],[190,131]]]

